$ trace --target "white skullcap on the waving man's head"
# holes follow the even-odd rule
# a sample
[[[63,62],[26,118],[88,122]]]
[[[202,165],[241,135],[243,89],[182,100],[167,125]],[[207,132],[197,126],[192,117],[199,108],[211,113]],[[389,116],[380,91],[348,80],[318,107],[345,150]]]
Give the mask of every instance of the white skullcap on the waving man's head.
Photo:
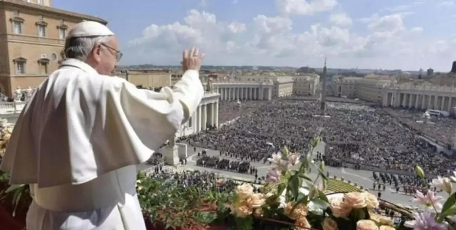
[[[83,21],[71,28],[66,39],[73,37],[111,36],[113,31],[96,21]]]

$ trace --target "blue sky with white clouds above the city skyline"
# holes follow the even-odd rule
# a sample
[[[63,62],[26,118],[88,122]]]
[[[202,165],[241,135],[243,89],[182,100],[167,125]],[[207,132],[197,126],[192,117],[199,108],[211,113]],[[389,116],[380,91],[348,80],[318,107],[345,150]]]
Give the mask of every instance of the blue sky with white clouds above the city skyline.
[[[178,65],[198,47],[207,65],[448,72],[456,0],[53,0],[109,21],[119,64]]]

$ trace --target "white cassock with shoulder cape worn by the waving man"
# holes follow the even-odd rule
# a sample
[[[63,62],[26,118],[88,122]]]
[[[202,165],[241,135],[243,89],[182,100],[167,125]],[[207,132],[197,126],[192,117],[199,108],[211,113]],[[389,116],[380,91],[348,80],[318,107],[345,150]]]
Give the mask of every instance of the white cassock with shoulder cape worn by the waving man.
[[[11,184],[30,184],[27,230],[144,230],[136,165],[203,94],[194,70],[156,93],[65,60],[22,110],[0,165]]]

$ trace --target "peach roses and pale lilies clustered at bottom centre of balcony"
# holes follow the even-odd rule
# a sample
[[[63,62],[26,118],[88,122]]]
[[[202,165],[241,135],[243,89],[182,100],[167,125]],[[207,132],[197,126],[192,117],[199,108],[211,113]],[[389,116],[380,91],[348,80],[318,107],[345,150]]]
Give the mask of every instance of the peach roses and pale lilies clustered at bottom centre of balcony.
[[[236,218],[236,229],[261,229],[255,223],[262,221],[297,230],[395,229],[393,220],[375,213],[379,201],[373,194],[363,191],[327,194],[324,162],[318,167],[311,162],[319,141],[318,136],[313,139],[311,150],[301,161],[299,155],[290,153],[286,147],[273,154],[268,159],[272,167],[261,192],[255,193],[249,184],[236,188],[233,202],[228,205]],[[314,180],[311,168],[317,170]]]

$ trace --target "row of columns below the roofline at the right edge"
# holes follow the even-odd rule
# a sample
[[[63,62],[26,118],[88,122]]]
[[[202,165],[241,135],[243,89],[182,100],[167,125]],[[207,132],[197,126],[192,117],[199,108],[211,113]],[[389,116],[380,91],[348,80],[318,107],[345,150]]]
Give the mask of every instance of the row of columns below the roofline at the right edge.
[[[383,106],[408,107],[451,112],[456,107],[456,94],[441,92],[385,92]]]

